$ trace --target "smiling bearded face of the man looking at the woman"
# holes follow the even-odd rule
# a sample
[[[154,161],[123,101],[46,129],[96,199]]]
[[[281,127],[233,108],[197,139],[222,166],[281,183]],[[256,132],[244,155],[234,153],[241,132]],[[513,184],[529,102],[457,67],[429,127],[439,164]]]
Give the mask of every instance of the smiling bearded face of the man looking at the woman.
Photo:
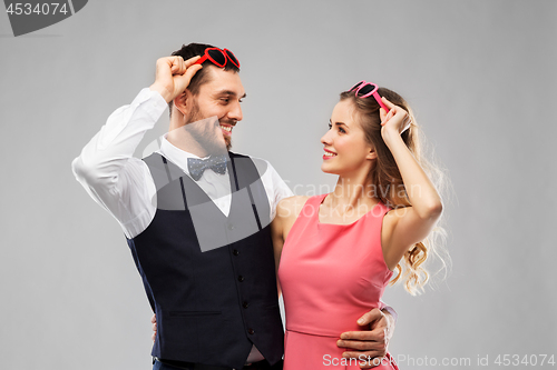
[[[188,122],[216,116],[219,132],[224,137],[226,149],[232,147],[232,130],[243,118],[241,102],[245,97],[238,73],[207,66],[209,82],[199,87],[199,93],[194,97]]]

